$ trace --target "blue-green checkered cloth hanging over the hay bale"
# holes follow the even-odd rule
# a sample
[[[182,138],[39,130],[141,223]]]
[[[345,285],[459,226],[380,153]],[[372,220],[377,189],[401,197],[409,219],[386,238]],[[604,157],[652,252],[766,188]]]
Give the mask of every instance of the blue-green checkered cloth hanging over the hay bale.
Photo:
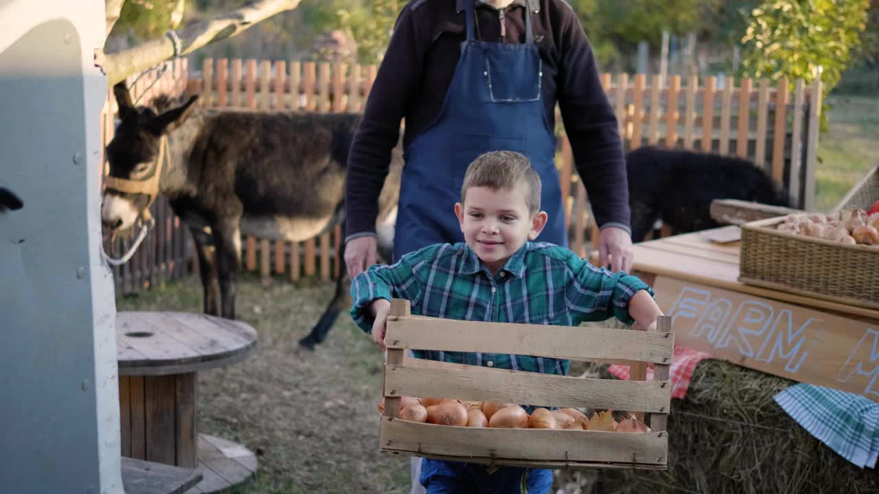
[[[879,403],[839,389],[795,384],[775,403],[803,429],[855,465],[875,468],[879,456]]]

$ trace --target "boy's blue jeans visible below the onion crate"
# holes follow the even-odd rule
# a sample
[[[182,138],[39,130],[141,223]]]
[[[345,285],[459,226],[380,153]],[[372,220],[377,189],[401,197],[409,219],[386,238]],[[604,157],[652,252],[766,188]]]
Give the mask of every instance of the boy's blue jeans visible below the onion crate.
[[[552,470],[519,469],[439,461],[421,461],[421,483],[427,494],[547,494]]]

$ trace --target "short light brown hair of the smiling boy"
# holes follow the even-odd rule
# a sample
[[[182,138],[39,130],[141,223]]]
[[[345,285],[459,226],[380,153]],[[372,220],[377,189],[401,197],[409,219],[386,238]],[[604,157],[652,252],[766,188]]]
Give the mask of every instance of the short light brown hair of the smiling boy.
[[[467,167],[461,185],[461,202],[467,199],[470,187],[513,190],[525,188],[528,212],[541,210],[541,178],[525,155],[515,151],[490,151],[476,157]]]

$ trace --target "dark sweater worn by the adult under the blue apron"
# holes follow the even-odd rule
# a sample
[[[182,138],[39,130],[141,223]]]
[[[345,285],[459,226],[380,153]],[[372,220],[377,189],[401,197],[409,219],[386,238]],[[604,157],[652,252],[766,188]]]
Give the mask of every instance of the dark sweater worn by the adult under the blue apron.
[[[628,228],[626,165],[617,120],[583,26],[563,0],[529,2],[532,11],[539,9],[532,13],[532,23],[543,61],[548,121],[555,125],[558,101],[596,222]],[[479,4],[477,38],[525,42],[524,4],[518,0],[505,8],[503,37],[499,11]],[[400,12],[348,157],[347,236],[375,229],[400,120],[405,119],[403,145],[408,146],[439,115],[466,37],[463,9],[463,0],[412,0]]]

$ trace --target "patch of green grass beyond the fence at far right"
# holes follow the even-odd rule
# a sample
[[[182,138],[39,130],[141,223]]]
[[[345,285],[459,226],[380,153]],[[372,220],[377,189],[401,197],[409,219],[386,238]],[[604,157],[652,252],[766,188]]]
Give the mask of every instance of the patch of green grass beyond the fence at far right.
[[[879,164],[879,98],[837,96],[829,128],[818,136],[815,207],[830,211],[855,182]]]

